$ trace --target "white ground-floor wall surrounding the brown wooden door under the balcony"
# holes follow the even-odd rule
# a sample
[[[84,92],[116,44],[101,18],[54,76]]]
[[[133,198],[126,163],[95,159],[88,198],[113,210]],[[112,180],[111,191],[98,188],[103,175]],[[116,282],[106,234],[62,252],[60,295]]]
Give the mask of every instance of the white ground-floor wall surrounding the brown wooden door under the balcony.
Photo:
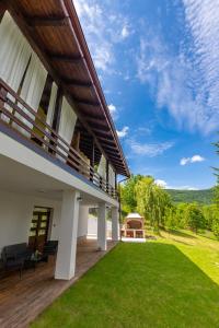
[[[49,239],[58,239],[60,201],[0,190],[0,253],[5,245],[28,242],[35,206],[54,209]]]

